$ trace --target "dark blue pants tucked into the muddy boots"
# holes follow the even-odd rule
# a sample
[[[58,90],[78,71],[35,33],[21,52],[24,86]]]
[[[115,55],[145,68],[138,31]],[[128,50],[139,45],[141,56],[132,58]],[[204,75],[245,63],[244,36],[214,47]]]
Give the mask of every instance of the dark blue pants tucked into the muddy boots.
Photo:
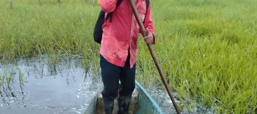
[[[119,80],[121,81],[120,95],[131,95],[135,89],[135,74],[136,64],[130,68],[129,64],[130,54],[124,67],[111,64],[100,54],[100,66],[102,73],[102,80],[104,89],[102,91],[103,100],[113,101],[116,96],[116,91],[119,87]]]

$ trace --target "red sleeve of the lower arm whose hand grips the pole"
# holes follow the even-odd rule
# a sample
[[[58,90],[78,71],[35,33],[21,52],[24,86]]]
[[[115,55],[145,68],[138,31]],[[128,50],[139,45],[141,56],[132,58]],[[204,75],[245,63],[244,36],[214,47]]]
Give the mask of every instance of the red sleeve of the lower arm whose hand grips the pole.
[[[151,4],[149,3],[148,9],[146,10],[145,17],[144,17],[144,28],[148,28],[150,32],[152,32],[153,38],[153,44],[155,44],[155,33],[154,33],[154,27],[153,27],[153,19],[152,19],[152,13],[151,13]]]

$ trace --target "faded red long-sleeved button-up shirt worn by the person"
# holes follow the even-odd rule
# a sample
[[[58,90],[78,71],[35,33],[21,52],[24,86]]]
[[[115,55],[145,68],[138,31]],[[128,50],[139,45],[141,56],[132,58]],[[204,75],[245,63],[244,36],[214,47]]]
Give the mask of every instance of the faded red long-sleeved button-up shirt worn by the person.
[[[101,41],[100,54],[110,63],[124,67],[128,49],[130,52],[130,68],[136,62],[137,40],[140,32],[139,25],[132,12],[128,0],[123,0],[116,8],[118,0],[100,0],[100,6],[107,13],[113,12],[112,22],[109,19],[103,24],[103,37]],[[151,14],[151,5],[149,3],[146,10],[145,0],[137,0],[136,9],[144,23],[154,36],[153,20]]]

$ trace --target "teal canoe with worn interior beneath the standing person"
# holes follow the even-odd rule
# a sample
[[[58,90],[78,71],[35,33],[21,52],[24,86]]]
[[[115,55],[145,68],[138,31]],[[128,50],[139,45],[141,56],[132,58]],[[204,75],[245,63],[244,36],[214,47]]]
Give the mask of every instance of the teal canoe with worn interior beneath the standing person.
[[[130,114],[163,114],[158,104],[146,92],[146,90],[135,81],[136,87],[132,93],[129,106]],[[114,100],[113,114],[118,112],[117,98]],[[101,90],[95,95],[84,114],[105,114],[103,109],[103,98]]]

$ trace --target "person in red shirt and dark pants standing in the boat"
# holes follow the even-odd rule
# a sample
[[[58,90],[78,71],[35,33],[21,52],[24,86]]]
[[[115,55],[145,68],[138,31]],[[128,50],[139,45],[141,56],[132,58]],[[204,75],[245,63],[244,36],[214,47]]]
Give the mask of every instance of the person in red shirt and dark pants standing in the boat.
[[[116,91],[121,82],[118,98],[119,114],[128,114],[132,92],[135,88],[137,40],[140,33],[139,25],[132,12],[128,0],[99,0],[101,9],[107,14],[112,13],[103,26],[100,48],[100,66],[104,89],[102,91],[104,110],[112,114]],[[148,2],[148,3],[147,3]],[[155,44],[155,33],[149,0],[134,0],[136,9],[146,28],[146,44]],[[111,19],[111,21],[110,21]]]

